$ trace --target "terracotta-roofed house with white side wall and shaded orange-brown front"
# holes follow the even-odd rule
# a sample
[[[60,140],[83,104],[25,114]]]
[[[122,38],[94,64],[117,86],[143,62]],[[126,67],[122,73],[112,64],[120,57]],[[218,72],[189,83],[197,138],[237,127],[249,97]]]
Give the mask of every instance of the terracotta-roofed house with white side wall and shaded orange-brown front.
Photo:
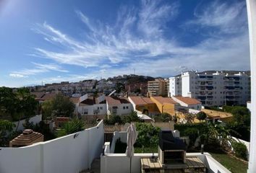
[[[128,97],[129,102],[132,104],[132,108],[134,111],[137,111],[138,113],[146,114],[146,115],[155,115],[159,114],[158,107],[155,105],[155,102],[153,102],[148,97]]]

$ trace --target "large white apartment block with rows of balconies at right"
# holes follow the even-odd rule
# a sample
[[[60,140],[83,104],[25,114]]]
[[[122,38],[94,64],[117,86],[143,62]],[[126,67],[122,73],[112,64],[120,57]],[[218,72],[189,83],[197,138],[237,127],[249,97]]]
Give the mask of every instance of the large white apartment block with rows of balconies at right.
[[[170,97],[192,97],[205,106],[246,105],[250,100],[249,71],[187,71],[169,80]]]

